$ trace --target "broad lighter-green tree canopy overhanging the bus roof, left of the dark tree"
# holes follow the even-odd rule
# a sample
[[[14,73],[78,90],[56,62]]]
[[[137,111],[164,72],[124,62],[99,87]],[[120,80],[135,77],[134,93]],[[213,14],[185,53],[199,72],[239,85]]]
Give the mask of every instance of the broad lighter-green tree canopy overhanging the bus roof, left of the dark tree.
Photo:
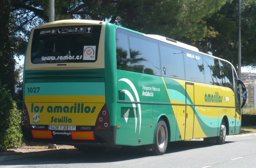
[[[192,41],[206,34],[206,22],[230,0],[55,0],[56,20],[108,20],[147,34]],[[28,29],[48,20],[48,1],[13,0],[12,11],[18,30]]]

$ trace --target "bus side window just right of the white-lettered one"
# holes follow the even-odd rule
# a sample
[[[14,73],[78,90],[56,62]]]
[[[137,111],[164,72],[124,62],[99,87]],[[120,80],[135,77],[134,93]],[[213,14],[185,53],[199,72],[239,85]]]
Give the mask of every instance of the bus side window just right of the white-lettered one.
[[[203,56],[205,83],[220,86],[219,60],[210,56]]]

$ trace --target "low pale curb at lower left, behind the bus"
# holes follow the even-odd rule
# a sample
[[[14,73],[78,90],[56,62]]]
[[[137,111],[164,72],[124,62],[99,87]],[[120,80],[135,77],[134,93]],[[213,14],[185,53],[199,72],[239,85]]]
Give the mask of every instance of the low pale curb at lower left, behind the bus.
[[[6,161],[6,160],[26,158],[30,156],[42,156],[48,153],[52,154],[57,152],[66,152],[66,151],[73,151],[73,150],[76,150],[76,149],[57,149],[57,150],[48,150],[48,151],[41,151],[41,152],[28,152],[28,153],[14,154],[14,155],[6,155],[6,156],[0,156],[0,162]]]

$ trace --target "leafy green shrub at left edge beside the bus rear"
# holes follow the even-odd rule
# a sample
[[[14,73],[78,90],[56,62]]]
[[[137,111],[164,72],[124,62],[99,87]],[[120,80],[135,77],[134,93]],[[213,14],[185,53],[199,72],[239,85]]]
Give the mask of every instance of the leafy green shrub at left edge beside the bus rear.
[[[0,85],[0,148],[16,148],[22,144],[21,111],[9,90]]]

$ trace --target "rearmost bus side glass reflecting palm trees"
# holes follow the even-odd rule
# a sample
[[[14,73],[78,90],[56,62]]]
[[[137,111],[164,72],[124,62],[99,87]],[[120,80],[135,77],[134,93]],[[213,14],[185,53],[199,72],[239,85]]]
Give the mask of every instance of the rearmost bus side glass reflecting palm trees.
[[[118,69],[160,75],[157,40],[117,29],[116,56]]]

